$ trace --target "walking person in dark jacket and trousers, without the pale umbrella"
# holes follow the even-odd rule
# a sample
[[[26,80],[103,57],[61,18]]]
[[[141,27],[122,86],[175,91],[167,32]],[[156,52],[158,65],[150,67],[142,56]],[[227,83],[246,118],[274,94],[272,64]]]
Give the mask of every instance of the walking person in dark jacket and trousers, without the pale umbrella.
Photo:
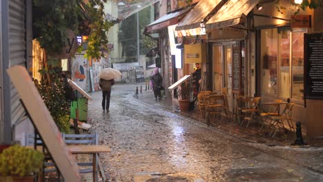
[[[111,96],[111,87],[115,85],[115,79],[105,80],[100,79],[99,85],[102,90],[102,110],[109,112],[110,108],[110,96]]]

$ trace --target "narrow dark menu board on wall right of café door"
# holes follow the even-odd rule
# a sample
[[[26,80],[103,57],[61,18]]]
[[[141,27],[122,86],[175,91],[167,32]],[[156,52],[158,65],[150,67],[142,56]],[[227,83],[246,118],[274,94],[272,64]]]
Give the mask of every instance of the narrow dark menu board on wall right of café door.
[[[242,54],[239,47],[232,49],[232,92],[241,93]]]

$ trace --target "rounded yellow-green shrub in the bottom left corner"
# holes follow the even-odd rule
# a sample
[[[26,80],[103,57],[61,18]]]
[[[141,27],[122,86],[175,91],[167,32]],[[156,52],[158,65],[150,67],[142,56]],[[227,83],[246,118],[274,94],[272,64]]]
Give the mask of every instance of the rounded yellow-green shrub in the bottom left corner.
[[[43,153],[13,145],[0,154],[1,176],[32,176],[43,167]]]

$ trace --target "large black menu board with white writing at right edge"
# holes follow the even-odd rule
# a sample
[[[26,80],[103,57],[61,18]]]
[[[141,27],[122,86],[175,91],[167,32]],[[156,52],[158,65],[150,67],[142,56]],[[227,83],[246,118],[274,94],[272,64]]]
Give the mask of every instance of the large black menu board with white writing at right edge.
[[[323,34],[304,34],[304,99],[323,99]]]

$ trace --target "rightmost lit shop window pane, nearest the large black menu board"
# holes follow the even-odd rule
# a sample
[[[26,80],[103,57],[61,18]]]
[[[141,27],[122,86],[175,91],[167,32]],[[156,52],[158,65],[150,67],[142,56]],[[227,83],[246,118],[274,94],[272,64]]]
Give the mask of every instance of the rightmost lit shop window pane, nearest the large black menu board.
[[[292,38],[292,98],[301,100],[304,93],[304,33],[306,29],[293,30]]]

